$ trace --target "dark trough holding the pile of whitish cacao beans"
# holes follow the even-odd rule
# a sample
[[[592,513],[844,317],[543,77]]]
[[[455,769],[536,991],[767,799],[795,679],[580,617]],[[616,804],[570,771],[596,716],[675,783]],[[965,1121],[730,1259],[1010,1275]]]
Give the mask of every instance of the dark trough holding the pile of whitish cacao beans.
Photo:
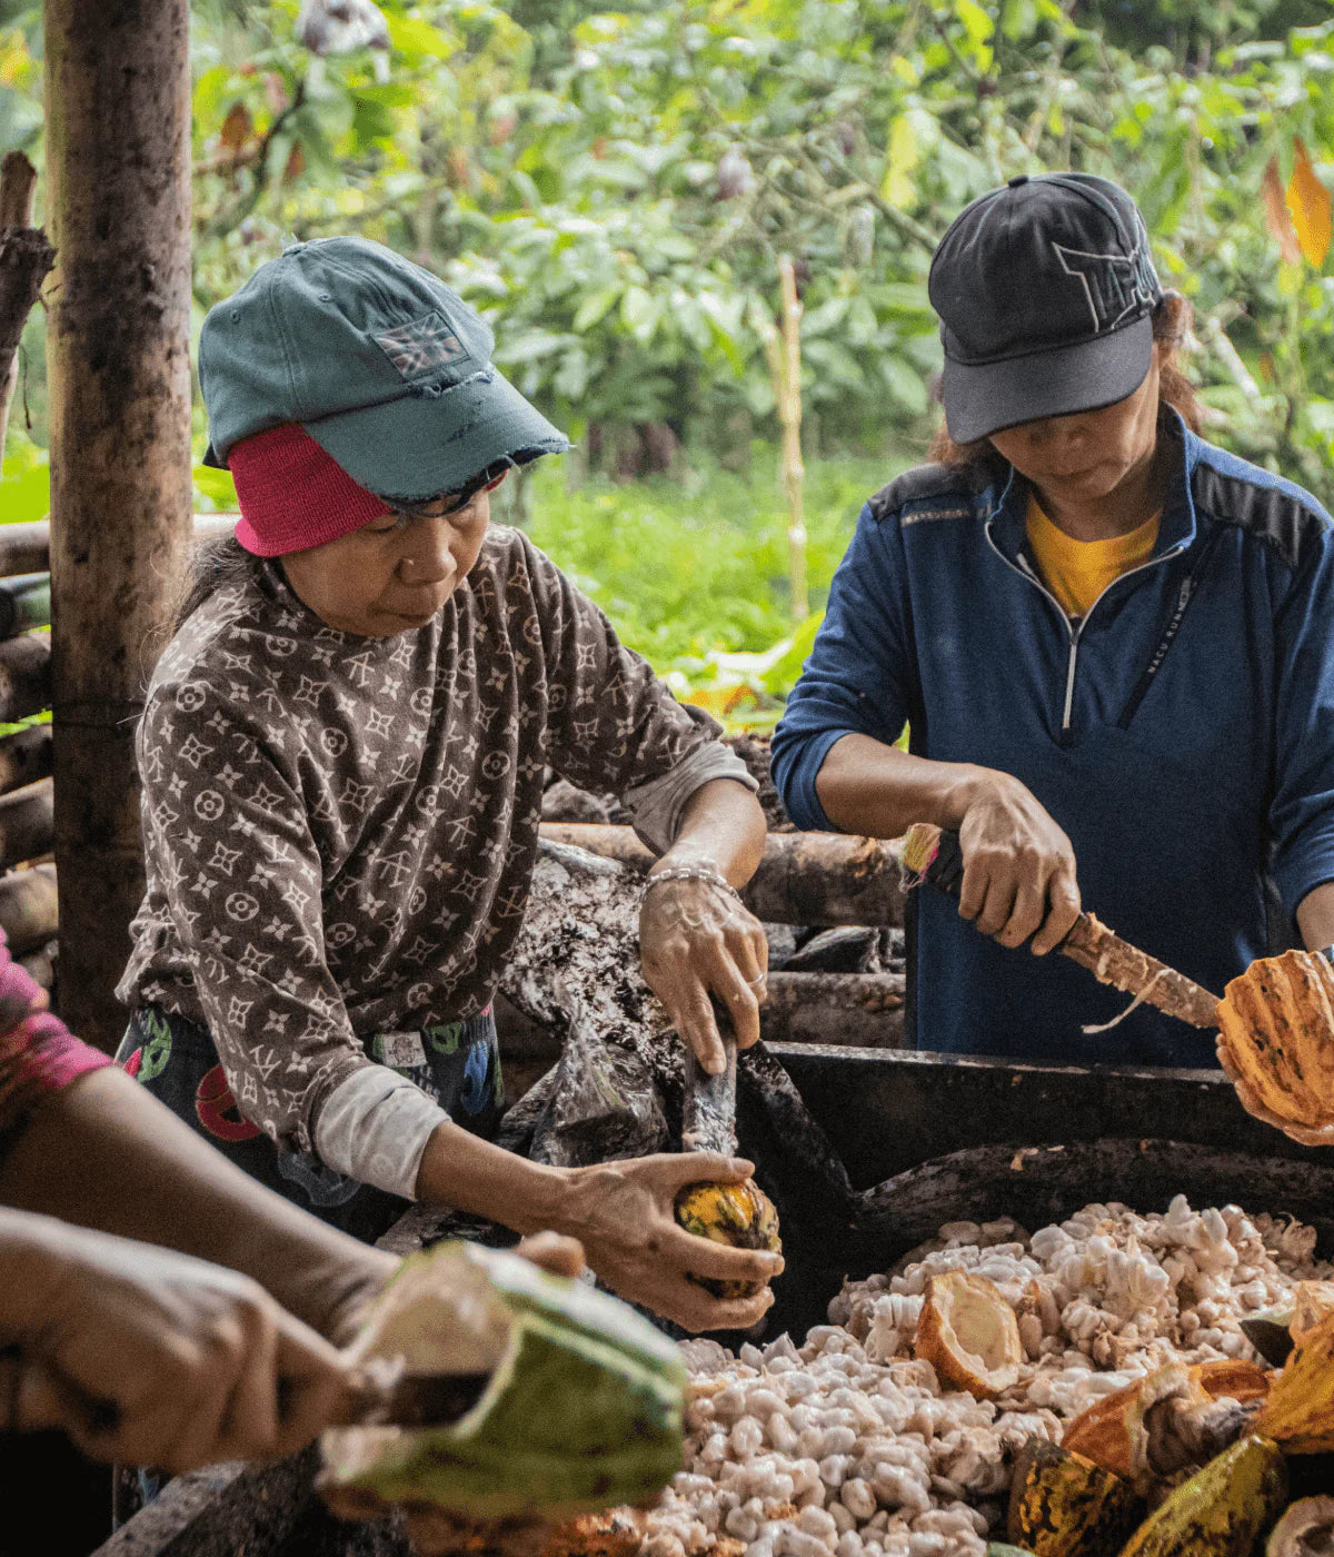
[[[803,1331],[844,1275],[884,1269],[956,1219],[1009,1213],[1029,1228],[1091,1200],[1163,1210],[1234,1200],[1314,1224],[1334,1252],[1334,1151],[1252,1119],[1211,1071],[1015,1065],[893,1049],[774,1045],[844,1157],[876,1186],[855,1221],[788,1218],[777,1330]],[[1107,1135],[1108,1121],[1122,1133]],[[389,1239],[430,1241],[411,1211]],[[386,1239],[386,1242],[389,1241]],[[392,1524],[341,1524],[311,1490],[313,1456],[184,1476],[93,1557],[405,1557]]]

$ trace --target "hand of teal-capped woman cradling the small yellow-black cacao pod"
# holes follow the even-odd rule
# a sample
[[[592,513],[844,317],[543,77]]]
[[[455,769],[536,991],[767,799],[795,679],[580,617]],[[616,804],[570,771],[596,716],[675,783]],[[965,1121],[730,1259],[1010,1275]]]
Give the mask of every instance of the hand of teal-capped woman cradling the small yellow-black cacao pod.
[[[753,1171],[749,1162],[710,1152],[573,1168],[562,1197],[562,1232],[584,1244],[588,1264],[620,1297],[685,1330],[749,1330],[774,1302],[767,1283],[783,1271],[783,1256],[697,1238],[677,1222],[674,1202],[688,1183],[742,1183]],[[761,1291],[714,1297],[693,1275]]]

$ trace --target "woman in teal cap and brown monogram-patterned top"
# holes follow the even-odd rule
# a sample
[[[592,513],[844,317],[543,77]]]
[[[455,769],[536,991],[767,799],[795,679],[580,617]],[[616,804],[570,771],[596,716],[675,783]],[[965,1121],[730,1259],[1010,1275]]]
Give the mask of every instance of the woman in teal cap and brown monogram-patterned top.
[[[777,1256],[674,1224],[727,1158],[554,1169],[481,1138],[490,1001],[523,917],[545,768],[616,789],[662,855],[644,973],[708,1068],[708,995],[758,1035],[766,945],[736,887],[753,783],[514,529],[504,472],[565,439],[490,366],[487,325],[378,244],[296,244],[204,325],[210,456],[237,481],[139,736],[148,892],[123,1062],[251,1172],[374,1238],[406,1200],[568,1230],[623,1295],[753,1323],[691,1275]]]

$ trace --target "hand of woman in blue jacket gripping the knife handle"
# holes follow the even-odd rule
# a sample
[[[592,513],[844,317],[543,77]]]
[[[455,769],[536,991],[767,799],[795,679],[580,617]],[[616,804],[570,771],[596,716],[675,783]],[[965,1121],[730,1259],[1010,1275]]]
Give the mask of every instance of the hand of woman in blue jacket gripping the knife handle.
[[[1002,947],[1032,936],[1043,956],[1079,919],[1079,884],[1069,839],[1030,789],[1009,774],[976,780],[959,824],[964,881],[959,912]]]

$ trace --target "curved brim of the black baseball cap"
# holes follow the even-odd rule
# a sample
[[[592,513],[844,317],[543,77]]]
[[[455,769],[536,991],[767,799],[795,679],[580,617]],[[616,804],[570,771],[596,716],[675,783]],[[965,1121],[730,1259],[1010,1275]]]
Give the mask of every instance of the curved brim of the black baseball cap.
[[[1091,341],[996,363],[960,363],[946,352],[940,380],[945,425],[956,444],[973,444],[1021,422],[1101,411],[1135,394],[1152,357],[1153,319],[1147,313]]]

